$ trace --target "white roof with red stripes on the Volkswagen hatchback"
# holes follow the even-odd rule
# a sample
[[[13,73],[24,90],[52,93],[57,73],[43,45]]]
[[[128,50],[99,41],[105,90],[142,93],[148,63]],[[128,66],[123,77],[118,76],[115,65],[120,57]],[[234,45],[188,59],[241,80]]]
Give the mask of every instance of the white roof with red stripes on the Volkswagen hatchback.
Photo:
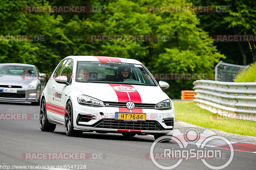
[[[65,59],[71,58],[74,61],[109,61],[109,62],[120,62],[121,63],[132,63],[132,64],[142,64],[138,60],[120,57],[108,57],[108,56],[93,56],[93,55],[70,55],[65,57]]]

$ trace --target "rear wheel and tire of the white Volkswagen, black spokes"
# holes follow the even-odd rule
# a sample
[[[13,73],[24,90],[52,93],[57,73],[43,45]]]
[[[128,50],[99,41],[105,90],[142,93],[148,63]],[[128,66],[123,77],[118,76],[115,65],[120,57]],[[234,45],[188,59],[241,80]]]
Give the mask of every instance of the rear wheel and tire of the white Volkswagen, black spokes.
[[[39,115],[40,129],[44,132],[53,132],[56,128],[56,124],[48,122],[46,113],[46,103],[43,98],[40,105],[40,115]]]

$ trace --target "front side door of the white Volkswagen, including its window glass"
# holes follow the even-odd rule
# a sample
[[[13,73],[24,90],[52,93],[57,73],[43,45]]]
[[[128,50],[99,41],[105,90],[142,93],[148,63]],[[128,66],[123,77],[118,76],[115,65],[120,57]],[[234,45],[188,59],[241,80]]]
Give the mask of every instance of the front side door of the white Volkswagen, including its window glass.
[[[59,76],[67,76],[68,77],[68,83],[72,83],[72,71],[73,71],[73,65],[74,62],[71,59],[68,59],[68,61],[65,63],[61,73]],[[57,111],[59,111],[59,114],[54,115],[54,119],[64,122],[64,114],[65,114],[65,108],[66,108],[66,101],[68,100],[68,94],[71,90],[70,85],[60,84],[55,82],[55,88],[53,90],[54,94],[54,100],[53,105],[57,107]],[[61,115],[63,114],[63,115]]]

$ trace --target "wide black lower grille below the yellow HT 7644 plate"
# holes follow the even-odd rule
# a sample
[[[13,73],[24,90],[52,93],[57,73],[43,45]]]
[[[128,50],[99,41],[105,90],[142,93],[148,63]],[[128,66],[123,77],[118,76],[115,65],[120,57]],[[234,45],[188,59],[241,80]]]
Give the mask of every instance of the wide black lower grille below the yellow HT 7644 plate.
[[[130,129],[130,130],[162,130],[156,121],[115,121],[104,120],[95,128],[107,128],[107,129]]]

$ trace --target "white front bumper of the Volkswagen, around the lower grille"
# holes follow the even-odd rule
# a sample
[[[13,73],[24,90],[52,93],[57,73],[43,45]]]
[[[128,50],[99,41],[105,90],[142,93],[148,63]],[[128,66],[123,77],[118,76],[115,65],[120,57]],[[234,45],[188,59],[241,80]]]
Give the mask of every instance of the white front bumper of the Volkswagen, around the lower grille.
[[[74,128],[99,133],[135,133],[138,135],[167,134],[174,128],[174,109],[142,109],[142,113],[146,114],[146,121],[116,120],[115,113],[117,112],[120,113],[118,107],[89,107],[78,104],[74,107]],[[81,119],[81,115],[94,119],[85,121]]]

